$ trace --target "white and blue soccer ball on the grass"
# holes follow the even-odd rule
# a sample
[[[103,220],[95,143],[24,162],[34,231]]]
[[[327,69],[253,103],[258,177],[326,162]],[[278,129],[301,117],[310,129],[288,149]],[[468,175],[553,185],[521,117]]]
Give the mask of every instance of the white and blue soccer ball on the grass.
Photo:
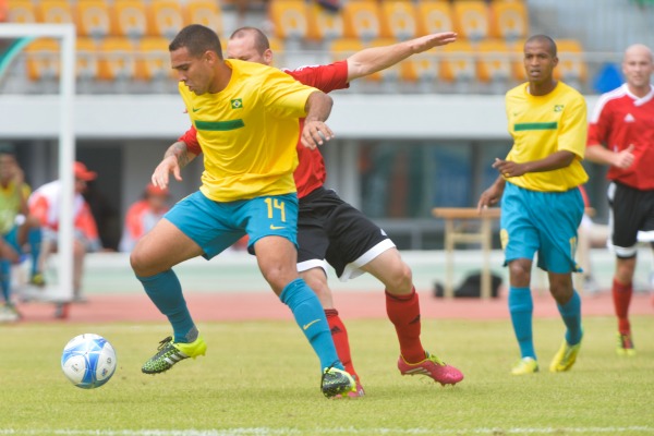
[[[116,351],[99,335],[75,336],[63,348],[61,370],[78,388],[100,387],[109,382],[116,371]]]

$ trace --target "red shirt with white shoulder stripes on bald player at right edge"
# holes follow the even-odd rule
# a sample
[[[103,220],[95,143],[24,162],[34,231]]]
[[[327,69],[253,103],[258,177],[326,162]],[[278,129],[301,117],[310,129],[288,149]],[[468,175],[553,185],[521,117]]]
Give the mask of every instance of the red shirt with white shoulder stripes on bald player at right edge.
[[[589,146],[602,144],[614,152],[633,144],[631,167],[609,167],[607,178],[641,191],[654,190],[654,86],[643,98],[627,85],[603,94],[589,124]]]

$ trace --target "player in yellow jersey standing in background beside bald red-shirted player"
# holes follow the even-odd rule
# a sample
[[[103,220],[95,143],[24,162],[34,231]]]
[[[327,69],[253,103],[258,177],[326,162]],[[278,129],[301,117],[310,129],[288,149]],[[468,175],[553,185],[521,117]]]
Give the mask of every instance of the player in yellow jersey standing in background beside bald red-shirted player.
[[[567,327],[549,370],[568,371],[577,360],[583,335],[581,301],[572,286],[577,229],[583,216],[579,185],[588,180],[581,166],[586,141],[586,106],[570,86],[554,78],[556,44],[536,35],[524,44],[529,82],[509,90],[506,111],[513,146],[493,167],[500,175],[482,193],[477,207],[501,198],[501,233],[509,266],[509,312],[521,360],[512,374],[538,371],[532,339],[530,291],[533,257],[547,271],[549,292]]]

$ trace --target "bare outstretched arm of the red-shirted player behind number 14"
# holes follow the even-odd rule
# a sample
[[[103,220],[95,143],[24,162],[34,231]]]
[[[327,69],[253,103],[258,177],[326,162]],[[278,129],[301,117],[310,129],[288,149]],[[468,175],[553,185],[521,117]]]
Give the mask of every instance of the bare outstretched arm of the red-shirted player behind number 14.
[[[372,47],[358,51],[348,58],[348,82],[386,70],[411,55],[422,53],[434,47],[445,46],[456,40],[457,34],[455,32],[443,32],[390,46]]]

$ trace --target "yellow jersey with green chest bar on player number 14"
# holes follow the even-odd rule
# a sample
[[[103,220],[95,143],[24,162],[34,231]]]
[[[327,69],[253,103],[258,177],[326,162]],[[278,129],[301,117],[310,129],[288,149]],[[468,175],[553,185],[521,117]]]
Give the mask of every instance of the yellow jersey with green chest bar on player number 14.
[[[204,155],[201,191],[216,202],[295,192],[299,119],[317,89],[270,66],[226,62],[232,76],[219,93],[179,84]]]

